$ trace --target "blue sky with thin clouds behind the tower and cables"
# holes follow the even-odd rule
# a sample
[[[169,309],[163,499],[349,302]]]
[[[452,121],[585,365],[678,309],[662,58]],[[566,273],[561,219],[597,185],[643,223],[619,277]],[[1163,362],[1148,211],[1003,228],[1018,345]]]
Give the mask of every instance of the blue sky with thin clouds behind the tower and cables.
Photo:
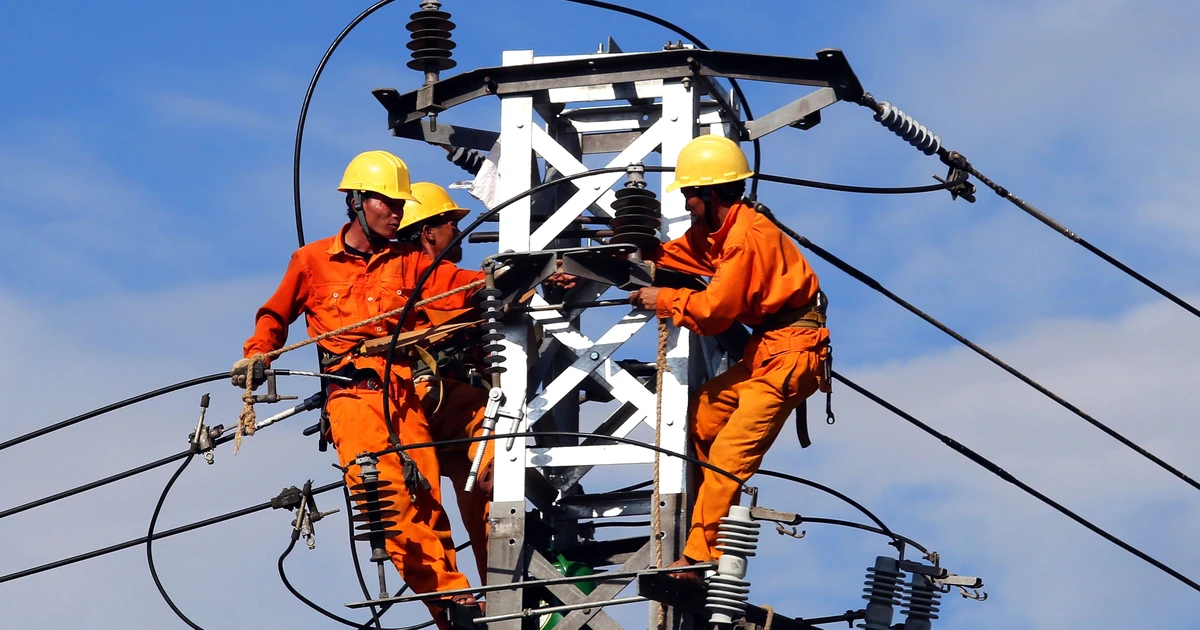
[[[461,172],[433,148],[388,134],[379,86],[413,89],[397,1],[334,56],[306,133],[310,240],[332,233],[334,190],[356,152],[401,154],[419,179]],[[365,5],[364,5],[365,6]],[[364,6],[347,2],[61,2],[6,7],[0,20],[0,366],[17,434],[97,404],[226,368],[254,308],[295,246],[290,163],[296,114],[329,41]],[[658,26],[560,1],[450,1],[457,70],[500,50],[658,49]],[[1192,113],[1200,74],[1187,2],[790,2],[708,0],[640,6],[710,46],[811,56],[845,50],[868,90],[940,133],[985,174],[1193,304],[1200,160]],[[454,71],[452,71],[454,72]],[[798,96],[750,86],[762,115]],[[461,118],[455,118],[461,116]],[[469,116],[469,118],[468,118]],[[494,128],[481,100],[446,119]],[[857,106],[826,110],[812,131],[764,142],[764,170],[866,185],[917,185],[944,174]],[[461,194],[461,193],[458,193]],[[980,191],[845,196],[763,185],[762,199],[799,232],[952,326],[984,342],[1102,421],[1192,470],[1200,322]],[[462,198],[463,202],[468,199]],[[472,208],[478,209],[478,204]],[[490,253],[468,250],[478,260]],[[1188,575],[1200,575],[1198,497],[1074,416],[828,265],[839,367],[900,407]],[[308,356],[294,359],[307,367]],[[311,388],[289,383],[295,394]],[[229,424],[235,392],[216,386],[210,420]],[[196,392],[198,395],[198,392]],[[784,440],[767,464],[860,498],[898,530],[983,575],[992,600],[948,601],[941,628],[1127,628],[1194,616],[1200,598],[842,388],[839,424],[815,428],[804,454]],[[196,400],[185,394],[0,454],[0,508],[182,448]],[[306,478],[332,479],[331,458],[284,425],[238,457],[184,475],[164,512],[179,524],[253,504]],[[0,572],[144,533],[167,472],[0,521]],[[18,481],[19,480],[19,481]],[[826,499],[763,482],[779,509],[852,516]],[[328,502],[326,502],[328,503]],[[324,505],[323,505],[324,506]],[[163,575],[206,628],[276,619],[324,622],[289,599],[274,558],[278,514],[163,544]],[[770,539],[752,569],[755,599],[780,612],[856,607],[863,569],[887,547],[809,528]],[[325,524],[290,560],[301,588],[337,606],[354,599],[342,530]],[[784,568],[800,568],[785,571]],[[323,590],[325,589],[325,590]],[[62,601],[59,593],[73,594]],[[190,593],[220,598],[203,604]],[[948,596],[949,600],[956,596]],[[0,586],[13,628],[172,628],[144,559],[104,560]],[[412,616],[424,614],[421,611]],[[634,616],[637,619],[637,616]],[[400,622],[397,622],[400,623]],[[1193,625],[1195,626],[1195,625]]]

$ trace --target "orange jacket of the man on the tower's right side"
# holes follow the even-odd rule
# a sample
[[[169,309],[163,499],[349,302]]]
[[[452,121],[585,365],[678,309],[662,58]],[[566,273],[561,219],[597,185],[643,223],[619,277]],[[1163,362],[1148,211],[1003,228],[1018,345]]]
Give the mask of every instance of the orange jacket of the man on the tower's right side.
[[[712,278],[704,290],[659,292],[656,314],[697,335],[718,335],[734,322],[762,324],[782,308],[809,304],[821,288],[796,244],[740,202],[733,204],[716,232],[696,223],[683,236],[662,244],[656,262]],[[781,352],[810,350],[828,338],[826,329],[772,330],[750,340],[744,359],[760,362]]]

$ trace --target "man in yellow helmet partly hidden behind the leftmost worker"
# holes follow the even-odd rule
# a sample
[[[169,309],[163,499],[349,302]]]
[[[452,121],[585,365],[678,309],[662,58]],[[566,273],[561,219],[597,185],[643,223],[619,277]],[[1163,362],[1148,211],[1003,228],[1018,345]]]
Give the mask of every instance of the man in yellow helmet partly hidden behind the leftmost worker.
[[[406,260],[403,282],[409,293],[433,258],[449,247],[458,235],[458,221],[467,216],[467,210],[460,208],[450,194],[430,182],[413,184],[413,197],[404,206],[404,218],[400,224],[402,257]],[[484,277],[482,271],[460,269],[455,263],[462,260],[462,247],[455,246],[446,253],[421,290],[421,295],[438,295],[451,289],[469,284]],[[457,316],[472,305],[472,295],[478,289],[446,296],[420,308],[416,314],[416,328],[443,323],[446,318]],[[430,421],[430,433],[437,442],[467,438],[479,434],[484,422],[484,410],[487,407],[487,390],[472,386],[468,378],[468,352],[445,344],[431,348],[438,365],[434,374],[431,366],[418,364],[413,370],[413,382],[416,395],[421,400],[425,418]],[[470,492],[464,491],[467,475],[478,449],[484,450],[482,466],[478,486]],[[472,551],[475,554],[475,566],[482,576],[487,571],[487,512],[492,491],[492,443],[456,444],[437,449],[438,466],[442,475],[450,478],[458,499],[458,511],[463,526],[470,536]],[[438,487],[440,480],[430,479]],[[450,532],[439,532],[449,548],[454,548]]]

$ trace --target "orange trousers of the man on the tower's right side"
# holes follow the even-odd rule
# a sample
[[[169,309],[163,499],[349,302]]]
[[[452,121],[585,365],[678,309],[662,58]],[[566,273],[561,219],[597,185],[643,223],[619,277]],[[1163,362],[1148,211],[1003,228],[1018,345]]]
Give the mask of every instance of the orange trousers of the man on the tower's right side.
[[[690,433],[696,457],[750,479],[787,416],[817,390],[822,350],[790,350],[757,366],[743,359],[700,386],[692,400]],[[701,469],[691,528],[683,554],[696,562],[720,556],[716,533],[721,517],[738,502],[739,486],[708,468]]]

